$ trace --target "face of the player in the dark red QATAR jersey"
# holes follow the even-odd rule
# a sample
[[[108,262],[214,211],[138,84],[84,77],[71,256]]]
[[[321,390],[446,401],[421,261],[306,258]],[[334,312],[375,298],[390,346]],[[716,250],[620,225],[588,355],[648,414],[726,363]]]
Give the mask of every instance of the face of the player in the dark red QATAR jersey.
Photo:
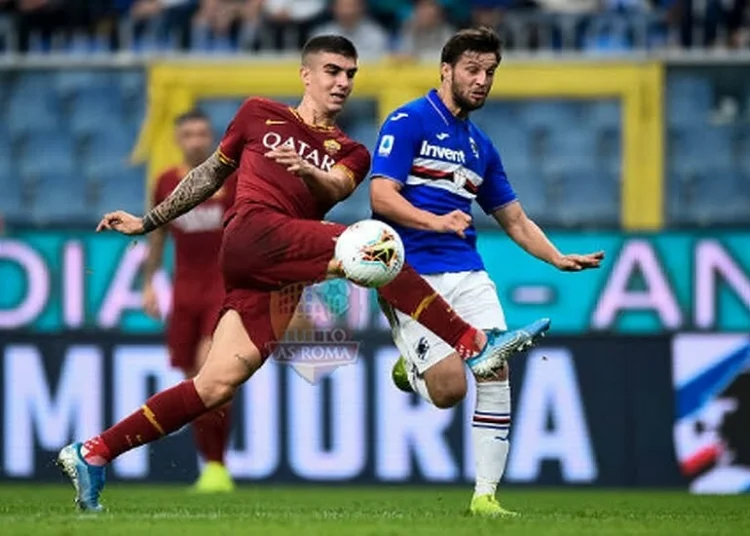
[[[305,92],[319,109],[335,115],[344,107],[354,88],[357,60],[339,54],[311,54],[302,67]]]

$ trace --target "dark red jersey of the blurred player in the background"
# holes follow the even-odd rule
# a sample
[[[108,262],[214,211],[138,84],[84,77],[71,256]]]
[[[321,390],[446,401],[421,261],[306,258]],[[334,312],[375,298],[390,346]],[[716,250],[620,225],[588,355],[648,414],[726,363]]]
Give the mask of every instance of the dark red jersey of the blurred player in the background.
[[[154,188],[154,204],[166,199],[187,172],[186,167],[178,166],[162,173]],[[235,188],[236,176],[232,175],[213,197],[169,223],[175,248],[175,295],[198,296],[222,288],[219,249],[224,214],[234,203]]]

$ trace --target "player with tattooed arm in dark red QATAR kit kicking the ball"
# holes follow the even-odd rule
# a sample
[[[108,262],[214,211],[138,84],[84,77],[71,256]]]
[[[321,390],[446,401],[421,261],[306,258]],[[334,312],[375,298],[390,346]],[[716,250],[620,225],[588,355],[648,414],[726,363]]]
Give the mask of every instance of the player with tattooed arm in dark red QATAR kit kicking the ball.
[[[334,123],[356,72],[351,41],[335,35],[312,38],[302,50],[304,94],[296,108],[248,99],[219,149],[167,199],[142,218],[116,211],[99,223],[98,230],[127,235],[152,232],[210,198],[239,170],[220,254],[226,295],[208,359],[195,378],[157,393],[100,435],[60,451],[58,464],[76,489],[79,508],[102,509],[104,468],[114,458],[232,399],[284,334],[294,308],[278,307],[279,301],[298,297],[305,284],[343,277],[334,249],[345,226],[321,220],[352,193],[370,166],[367,149]],[[450,229],[453,219],[444,219]],[[477,330],[408,263],[378,292],[455,348],[475,374],[495,374],[549,327],[546,321],[507,333]]]

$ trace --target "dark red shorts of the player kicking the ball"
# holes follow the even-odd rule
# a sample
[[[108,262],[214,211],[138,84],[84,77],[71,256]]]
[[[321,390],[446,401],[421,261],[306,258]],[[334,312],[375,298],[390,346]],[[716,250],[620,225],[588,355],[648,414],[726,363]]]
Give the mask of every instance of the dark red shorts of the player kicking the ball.
[[[263,359],[286,331],[305,286],[325,279],[344,229],[258,205],[243,207],[228,222],[221,248],[222,312],[239,313]]]

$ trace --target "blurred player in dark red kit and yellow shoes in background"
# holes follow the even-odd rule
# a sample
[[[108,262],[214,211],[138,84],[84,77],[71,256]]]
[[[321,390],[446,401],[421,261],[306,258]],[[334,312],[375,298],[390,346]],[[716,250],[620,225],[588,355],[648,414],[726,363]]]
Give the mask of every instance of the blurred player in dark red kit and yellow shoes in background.
[[[154,186],[153,206],[164,201],[187,173],[200,165],[214,148],[209,118],[192,110],[177,118],[175,137],[182,163],[162,173]],[[230,177],[201,205],[159,227],[149,235],[149,252],[143,275],[143,307],[160,318],[154,290],[154,275],[161,268],[167,233],[175,248],[172,305],[167,320],[167,348],[173,367],[186,378],[194,377],[211,345],[211,332],[224,300],[219,269],[219,250],[225,212],[234,203],[236,180]],[[230,404],[216,408],[193,421],[195,443],[205,465],[194,489],[200,492],[232,491],[234,483],[224,466],[224,453],[231,428]]]

